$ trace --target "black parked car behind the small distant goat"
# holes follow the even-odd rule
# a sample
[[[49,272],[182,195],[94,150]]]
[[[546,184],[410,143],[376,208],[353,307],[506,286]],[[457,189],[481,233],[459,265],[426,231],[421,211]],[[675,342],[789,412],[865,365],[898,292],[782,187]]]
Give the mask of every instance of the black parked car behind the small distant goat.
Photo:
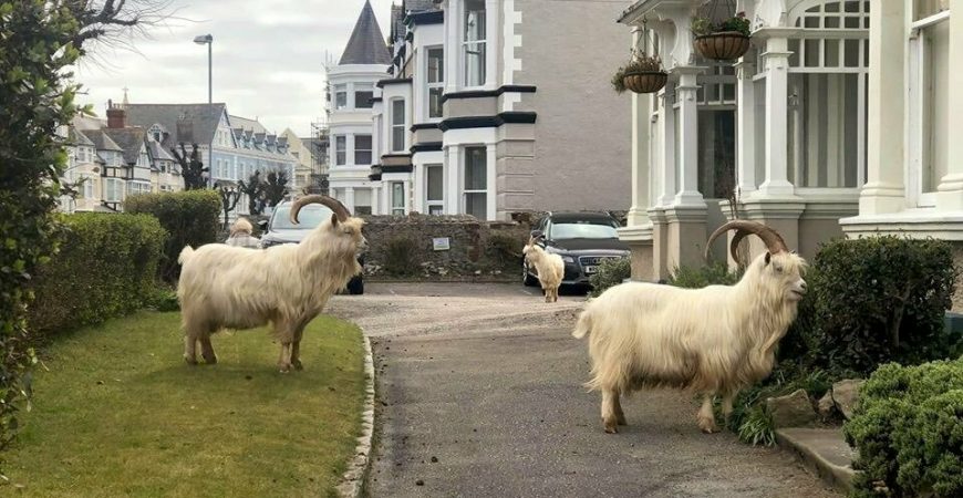
[[[619,220],[607,212],[549,212],[538,220],[532,237],[547,252],[560,255],[566,263],[565,286],[589,286],[589,277],[607,259],[629,257],[629,246],[619,240]],[[522,283],[537,286],[535,268],[521,262]]]

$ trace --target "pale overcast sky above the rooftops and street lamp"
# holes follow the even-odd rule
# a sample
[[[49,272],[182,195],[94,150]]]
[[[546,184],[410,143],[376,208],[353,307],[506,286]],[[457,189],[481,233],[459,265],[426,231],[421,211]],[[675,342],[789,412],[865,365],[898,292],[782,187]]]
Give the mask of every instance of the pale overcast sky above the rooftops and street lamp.
[[[234,115],[257,117],[278,134],[307,136],[324,115],[325,54],[335,63],[364,0],[173,0],[178,18],[134,42],[136,52],[96,46],[96,62],[76,70],[86,95],[104,116],[108,98],[128,89],[133,103],[206,103],[207,46],[214,35],[214,102]],[[392,0],[371,0],[387,35]]]

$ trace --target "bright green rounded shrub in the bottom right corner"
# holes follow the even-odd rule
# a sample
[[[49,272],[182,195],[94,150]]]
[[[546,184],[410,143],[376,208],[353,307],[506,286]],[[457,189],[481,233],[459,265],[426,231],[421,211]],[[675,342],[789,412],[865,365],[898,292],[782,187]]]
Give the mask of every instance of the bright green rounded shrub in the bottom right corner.
[[[880,367],[843,430],[853,497],[963,496],[963,360]]]

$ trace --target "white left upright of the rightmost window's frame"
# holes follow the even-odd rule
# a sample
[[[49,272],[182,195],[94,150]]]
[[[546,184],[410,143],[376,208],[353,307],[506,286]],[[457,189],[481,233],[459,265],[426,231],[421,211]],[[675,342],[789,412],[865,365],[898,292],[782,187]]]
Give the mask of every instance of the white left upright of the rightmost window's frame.
[[[936,12],[926,18],[913,21],[912,17],[915,12],[914,0],[907,0],[909,19],[909,111],[910,123],[908,126],[909,136],[909,165],[910,173],[908,181],[911,185],[910,194],[915,197],[915,206],[921,208],[931,208],[936,206],[936,190],[923,190],[923,174],[926,168],[925,160],[928,158],[929,146],[926,139],[929,137],[929,116],[925,111],[926,102],[926,74],[925,66],[929,53],[926,51],[926,34],[925,30],[942,22],[950,22],[950,10]],[[953,91],[952,89],[950,90]],[[939,179],[936,180],[939,184]]]

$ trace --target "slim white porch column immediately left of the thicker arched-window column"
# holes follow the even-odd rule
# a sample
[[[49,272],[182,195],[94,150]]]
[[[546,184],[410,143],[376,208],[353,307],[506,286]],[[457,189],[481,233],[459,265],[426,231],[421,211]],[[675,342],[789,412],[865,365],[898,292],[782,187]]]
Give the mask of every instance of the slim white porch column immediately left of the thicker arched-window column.
[[[756,87],[753,74],[756,64],[743,58],[736,63],[737,104],[736,108],[736,184],[738,196],[750,195],[756,190]]]

